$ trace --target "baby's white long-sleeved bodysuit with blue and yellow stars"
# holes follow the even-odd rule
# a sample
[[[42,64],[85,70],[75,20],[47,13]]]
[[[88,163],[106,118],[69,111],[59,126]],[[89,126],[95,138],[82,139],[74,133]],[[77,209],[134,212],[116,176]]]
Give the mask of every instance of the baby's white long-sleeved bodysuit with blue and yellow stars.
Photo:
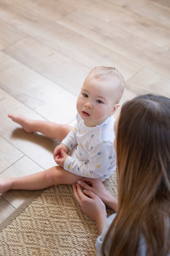
[[[90,178],[106,180],[116,168],[113,116],[102,124],[88,127],[77,113],[77,124],[61,142],[71,150],[64,170]]]

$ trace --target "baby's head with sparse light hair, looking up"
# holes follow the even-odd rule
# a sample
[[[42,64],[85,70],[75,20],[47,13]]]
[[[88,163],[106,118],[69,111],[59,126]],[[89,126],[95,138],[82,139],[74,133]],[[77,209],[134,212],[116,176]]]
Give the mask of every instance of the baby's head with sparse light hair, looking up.
[[[77,99],[77,111],[84,124],[96,126],[113,115],[119,107],[124,86],[124,77],[114,67],[93,68]]]

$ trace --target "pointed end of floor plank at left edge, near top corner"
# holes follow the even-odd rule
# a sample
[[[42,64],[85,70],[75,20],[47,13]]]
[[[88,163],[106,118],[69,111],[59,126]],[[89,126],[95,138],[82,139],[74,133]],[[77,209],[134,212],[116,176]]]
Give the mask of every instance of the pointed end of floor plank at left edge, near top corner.
[[[17,42],[25,36],[24,33],[7,25],[5,22],[0,21],[0,38],[6,40],[8,45]]]

